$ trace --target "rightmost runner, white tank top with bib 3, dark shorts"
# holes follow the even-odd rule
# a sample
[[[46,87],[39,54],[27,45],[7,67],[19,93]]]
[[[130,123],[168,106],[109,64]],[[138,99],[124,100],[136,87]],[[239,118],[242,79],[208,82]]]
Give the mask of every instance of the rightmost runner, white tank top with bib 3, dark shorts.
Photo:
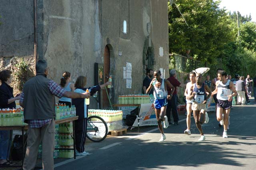
[[[222,70],[218,73],[218,81],[216,82],[216,88],[212,92],[212,96],[217,94],[217,120],[220,121],[221,125],[224,125],[224,132],[222,137],[228,138],[228,116],[232,105],[232,97],[236,96],[237,92],[233,82],[226,79],[227,73]],[[233,93],[232,93],[233,92]],[[224,113],[224,116],[222,115]]]

